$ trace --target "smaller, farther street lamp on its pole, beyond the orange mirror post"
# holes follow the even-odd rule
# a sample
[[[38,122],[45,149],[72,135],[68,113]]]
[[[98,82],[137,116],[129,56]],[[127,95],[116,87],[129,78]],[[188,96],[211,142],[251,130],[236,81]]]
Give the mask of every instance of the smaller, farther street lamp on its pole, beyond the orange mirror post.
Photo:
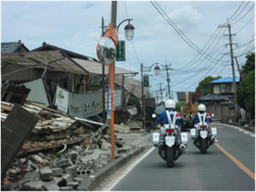
[[[155,75],[159,75],[160,73],[160,68],[158,67],[158,64],[159,63],[154,63],[152,64],[150,67],[144,67],[144,64],[142,63],[141,64],[141,73],[142,73],[142,120],[143,120],[143,127],[145,128],[145,118],[144,118],[144,72],[147,72],[147,71],[151,71],[152,67],[154,65],[155,66],[155,69],[154,69],[154,73]]]

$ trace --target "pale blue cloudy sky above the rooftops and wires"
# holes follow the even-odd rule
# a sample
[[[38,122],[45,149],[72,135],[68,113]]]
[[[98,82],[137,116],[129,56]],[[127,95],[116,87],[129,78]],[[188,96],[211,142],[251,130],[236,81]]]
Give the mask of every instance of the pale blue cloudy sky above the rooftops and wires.
[[[255,1],[252,0],[117,0],[117,25],[133,19],[132,41],[125,40],[124,22],[119,40],[125,40],[125,61],[116,67],[140,72],[141,64],[159,63],[161,74],[149,75],[151,92],[167,99],[166,70],[170,91],[195,91],[205,77],[232,76],[229,28],[233,55],[242,66],[246,54],[255,51]],[[109,26],[111,0],[0,0],[0,42],[21,40],[29,49],[43,42],[97,59],[101,18]],[[235,74],[239,75],[236,60]],[[133,77],[141,80],[141,75]]]

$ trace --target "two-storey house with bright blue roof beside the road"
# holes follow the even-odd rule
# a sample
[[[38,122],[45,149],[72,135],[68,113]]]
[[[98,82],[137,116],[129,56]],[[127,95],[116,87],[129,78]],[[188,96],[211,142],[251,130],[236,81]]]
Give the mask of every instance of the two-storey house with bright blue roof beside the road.
[[[240,78],[237,77],[237,89],[239,84]],[[206,105],[207,112],[214,113],[214,119],[235,116],[233,78],[227,77],[219,80],[212,80],[208,83],[208,87],[210,87],[211,93],[198,99],[199,103],[204,103]]]

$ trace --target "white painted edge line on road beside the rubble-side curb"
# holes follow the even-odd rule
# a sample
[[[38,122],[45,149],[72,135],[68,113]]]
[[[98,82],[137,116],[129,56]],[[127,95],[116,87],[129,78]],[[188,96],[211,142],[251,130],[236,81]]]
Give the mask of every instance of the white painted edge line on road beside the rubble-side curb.
[[[144,155],[142,155],[141,157],[139,157],[136,161],[133,162],[133,164],[127,166],[121,173],[122,176],[116,176],[112,182],[110,184],[108,184],[106,187],[102,188],[102,191],[111,191],[112,187],[115,187],[116,184],[118,184],[119,181],[121,181],[121,179],[123,179],[124,176],[126,176],[135,165],[137,165],[138,163],[140,163],[144,157],[146,157],[147,155],[149,155],[153,150],[155,149],[155,147],[152,147],[151,149],[149,149]]]

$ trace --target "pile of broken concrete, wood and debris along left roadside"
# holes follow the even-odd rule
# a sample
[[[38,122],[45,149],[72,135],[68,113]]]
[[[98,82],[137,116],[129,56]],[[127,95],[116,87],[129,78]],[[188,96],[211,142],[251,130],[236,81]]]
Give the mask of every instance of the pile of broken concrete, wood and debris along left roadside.
[[[0,101],[2,123],[13,107]],[[0,190],[76,190],[80,181],[112,161],[108,125],[73,118],[34,102],[22,107],[39,120],[0,180]],[[116,158],[134,147],[115,135]]]

